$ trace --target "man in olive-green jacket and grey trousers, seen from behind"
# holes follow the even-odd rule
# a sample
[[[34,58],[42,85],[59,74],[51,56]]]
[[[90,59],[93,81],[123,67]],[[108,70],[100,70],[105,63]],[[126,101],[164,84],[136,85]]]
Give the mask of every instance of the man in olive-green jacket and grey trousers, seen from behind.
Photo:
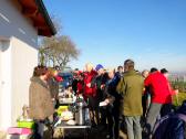
[[[121,111],[125,117],[128,139],[142,139],[141,116],[142,95],[144,89],[144,79],[134,70],[134,62],[126,60],[124,62],[124,77],[117,85],[117,92],[123,96]]]

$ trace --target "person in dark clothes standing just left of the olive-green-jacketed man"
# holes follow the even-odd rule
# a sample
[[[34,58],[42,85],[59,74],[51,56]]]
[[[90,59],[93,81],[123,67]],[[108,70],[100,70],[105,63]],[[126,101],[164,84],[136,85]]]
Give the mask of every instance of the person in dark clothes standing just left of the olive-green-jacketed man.
[[[120,82],[113,68],[108,70],[108,81],[105,85],[104,103],[106,103],[106,118],[108,121],[110,139],[118,139],[120,127],[120,101],[121,96],[116,92],[116,86]]]

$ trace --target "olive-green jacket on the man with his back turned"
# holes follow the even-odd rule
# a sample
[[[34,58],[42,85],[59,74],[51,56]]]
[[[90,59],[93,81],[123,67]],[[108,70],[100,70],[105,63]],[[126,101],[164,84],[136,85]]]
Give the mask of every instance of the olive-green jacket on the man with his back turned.
[[[128,71],[117,85],[117,92],[122,94],[123,101],[121,113],[124,116],[141,116],[142,95],[144,89],[144,79],[135,71]]]

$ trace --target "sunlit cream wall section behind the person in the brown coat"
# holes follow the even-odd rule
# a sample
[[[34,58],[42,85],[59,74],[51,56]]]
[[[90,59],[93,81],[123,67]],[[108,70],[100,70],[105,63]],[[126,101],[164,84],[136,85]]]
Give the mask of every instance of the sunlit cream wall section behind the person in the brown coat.
[[[22,114],[22,106],[29,105],[29,85],[33,67],[38,64],[38,50],[17,38],[12,46],[12,125]]]

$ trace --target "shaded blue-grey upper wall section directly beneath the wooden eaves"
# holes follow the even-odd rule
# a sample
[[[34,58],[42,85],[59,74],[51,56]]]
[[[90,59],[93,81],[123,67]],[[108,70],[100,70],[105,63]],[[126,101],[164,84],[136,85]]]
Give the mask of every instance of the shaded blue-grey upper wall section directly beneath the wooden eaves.
[[[0,0],[0,38],[16,36],[30,46],[38,46],[38,32],[30,19],[21,14],[17,0]]]

